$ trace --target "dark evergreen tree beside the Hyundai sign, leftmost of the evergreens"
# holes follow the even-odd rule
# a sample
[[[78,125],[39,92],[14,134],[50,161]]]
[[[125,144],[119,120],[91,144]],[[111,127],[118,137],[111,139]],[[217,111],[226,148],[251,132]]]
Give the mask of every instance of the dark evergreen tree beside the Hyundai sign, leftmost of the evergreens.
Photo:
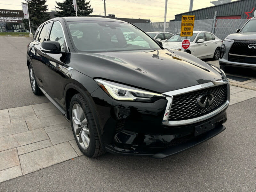
[[[46,13],[48,11],[45,4],[46,0],[31,0],[28,1],[28,13],[30,19],[30,26],[32,29],[36,30],[44,21],[50,19],[50,15]],[[22,3],[24,4],[24,3]],[[24,24],[26,28],[28,26],[28,19],[24,19]]]

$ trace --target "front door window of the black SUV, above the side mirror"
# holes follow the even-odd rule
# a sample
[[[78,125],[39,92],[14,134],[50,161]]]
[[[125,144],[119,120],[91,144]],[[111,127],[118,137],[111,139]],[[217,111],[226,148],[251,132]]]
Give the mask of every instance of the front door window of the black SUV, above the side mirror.
[[[49,40],[58,41],[62,50],[63,44],[65,43],[65,38],[60,23],[53,22]]]

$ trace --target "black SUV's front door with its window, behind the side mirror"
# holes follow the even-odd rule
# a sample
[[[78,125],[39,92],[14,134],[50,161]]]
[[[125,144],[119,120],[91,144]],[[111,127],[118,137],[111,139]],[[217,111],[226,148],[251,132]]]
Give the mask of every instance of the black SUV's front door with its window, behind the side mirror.
[[[64,100],[61,88],[61,69],[65,52],[67,52],[64,32],[59,21],[53,21],[48,35],[49,41],[57,41],[60,43],[63,53],[44,53],[42,56],[44,88],[50,97],[55,100],[62,108],[64,108]]]

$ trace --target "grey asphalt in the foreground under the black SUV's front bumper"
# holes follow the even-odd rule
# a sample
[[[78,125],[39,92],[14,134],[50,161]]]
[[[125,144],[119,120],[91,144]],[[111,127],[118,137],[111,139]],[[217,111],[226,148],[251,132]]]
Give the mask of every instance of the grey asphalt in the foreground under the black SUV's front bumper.
[[[165,159],[80,156],[0,183],[1,191],[252,191],[256,98],[228,108],[227,129]]]

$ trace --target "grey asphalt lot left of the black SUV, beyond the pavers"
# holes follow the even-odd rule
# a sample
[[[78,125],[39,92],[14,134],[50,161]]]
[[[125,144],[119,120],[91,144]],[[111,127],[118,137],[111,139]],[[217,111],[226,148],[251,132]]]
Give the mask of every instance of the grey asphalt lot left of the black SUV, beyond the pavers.
[[[28,75],[27,37],[0,36],[0,110],[49,102],[33,94]]]

